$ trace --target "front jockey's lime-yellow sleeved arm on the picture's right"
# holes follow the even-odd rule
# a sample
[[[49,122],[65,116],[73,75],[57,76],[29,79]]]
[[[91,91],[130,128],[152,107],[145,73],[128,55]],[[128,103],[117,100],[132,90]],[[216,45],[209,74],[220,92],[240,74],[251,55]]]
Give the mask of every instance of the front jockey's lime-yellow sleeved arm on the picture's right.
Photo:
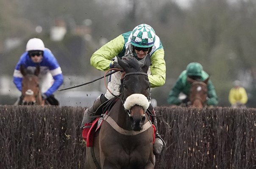
[[[151,74],[148,76],[150,87],[159,87],[164,85],[166,77],[166,66],[164,61],[164,49],[156,50],[151,55]]]

